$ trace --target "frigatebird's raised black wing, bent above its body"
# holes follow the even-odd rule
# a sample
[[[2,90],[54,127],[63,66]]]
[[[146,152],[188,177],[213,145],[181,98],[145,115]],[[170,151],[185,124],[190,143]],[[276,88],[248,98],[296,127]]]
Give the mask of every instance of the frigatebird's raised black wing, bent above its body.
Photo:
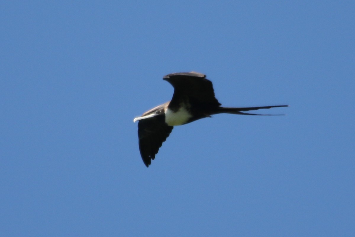
[[[206,79],[204,74],[179,72],[168,74],[163,79],[170,82],[174,87],[174,95],[170,106],[178,107],[180,102],[184,101],[184,98],[180,98],[180,96],[187,96],[190,102],[198,105],[208,104],[213,107],[221,105],[214,96],[212,82]]]

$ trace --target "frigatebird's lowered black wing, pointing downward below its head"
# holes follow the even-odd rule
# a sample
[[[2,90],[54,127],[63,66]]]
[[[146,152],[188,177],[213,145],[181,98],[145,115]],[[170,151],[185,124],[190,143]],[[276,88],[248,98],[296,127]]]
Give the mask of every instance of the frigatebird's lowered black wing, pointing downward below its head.
[[[153,118],[139,120],[138,122],[138,139],[139,150],[147,167],[154,160],[159,148],[170,135],[173,126],[165,123],[164,115],[157,115]]]

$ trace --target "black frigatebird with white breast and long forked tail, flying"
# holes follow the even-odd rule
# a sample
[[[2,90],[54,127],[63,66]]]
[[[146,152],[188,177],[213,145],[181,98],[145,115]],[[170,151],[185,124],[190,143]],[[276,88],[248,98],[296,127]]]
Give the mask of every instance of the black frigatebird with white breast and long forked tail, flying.
[[[171,101],[161,104],[133,119],[138,121],[139,150],[147,167],[154,160],[159,148],[168,138],[174,126],[191,123],[195,120],[211,117],[213,114],[228,113],[242,115],[278,115],[252,114],[244,111],[287,107],[288,105],[241,107],[222,107],[214,96],[212,82],[206,75],[198,72],[178,72],[163,77],[174,87]]]

